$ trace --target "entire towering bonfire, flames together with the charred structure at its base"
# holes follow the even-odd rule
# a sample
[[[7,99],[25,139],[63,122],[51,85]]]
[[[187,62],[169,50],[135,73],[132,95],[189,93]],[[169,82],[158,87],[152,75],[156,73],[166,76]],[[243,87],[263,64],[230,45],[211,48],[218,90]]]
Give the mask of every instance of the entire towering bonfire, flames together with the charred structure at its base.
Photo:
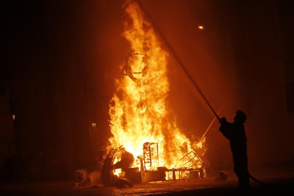
[[[109,105],[113,137],[109,138],[102,182],[110,185],[117,178],[141,182],[203,178],[203,161],[193,151],[203,140],[191,143],[166,105],[169,53],[136,1],[127,1],[124,9],[128,19],[122,35],[131,49],[121,65],[125,76],[116,79],[117,92]],[[124,152],[133,155],[132,163],[123,158]],[[130,167],[117,167],[128,164]]]

